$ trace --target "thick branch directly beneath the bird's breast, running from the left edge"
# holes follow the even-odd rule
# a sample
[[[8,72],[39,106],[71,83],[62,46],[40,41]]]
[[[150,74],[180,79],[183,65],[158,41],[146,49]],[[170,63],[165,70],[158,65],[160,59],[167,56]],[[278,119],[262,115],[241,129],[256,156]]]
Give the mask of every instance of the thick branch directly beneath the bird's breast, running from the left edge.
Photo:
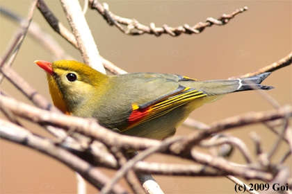
[[[99,125],[95,120],[80,118],[76,116],[68,116],[56,112],[49,112],[44,109],[39,109],[25,103],[17,102],[6,96],[1,96],[0,103],[8,107],[14,114],[29,119],[35,123],[51,124],[58,127],[64,127],[66,130],[74,127],[75,132],[80,132],[93,139],[102,141],[109,147],[118,146],[124,149],[141,150],[149,148],[153,145],[160,145],[160,141],[138,138],[133,136],[123,136],[120,134],[107,130]]]

